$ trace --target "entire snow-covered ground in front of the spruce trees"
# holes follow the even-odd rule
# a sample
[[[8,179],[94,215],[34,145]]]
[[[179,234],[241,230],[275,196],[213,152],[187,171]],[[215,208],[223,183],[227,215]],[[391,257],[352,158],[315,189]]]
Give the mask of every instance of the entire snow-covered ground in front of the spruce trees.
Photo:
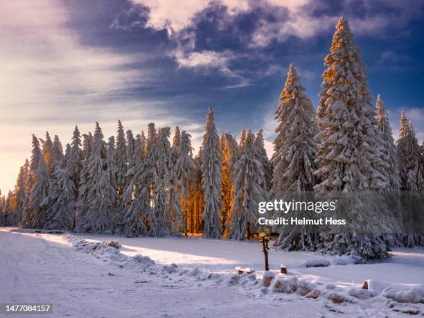
[[[273,292],[274,285],[261,287],[263,254],[257,242],[114,238],[124,255],[109,247],[93,249],[95,242],[110,238],[0,228],[0,303],[53,303],[54,317],[406,316],[394,310],[424,315],[423,303],[352,296],[365,279],[423,284],[423,249],[397,249],[384,263],[313,268],[302,264],[317,258],[333,264],[346,260],[270,250],[272,270],[286,265],[289,274],[317,288],[319,297],[308,299],[299,292]],[[131,257],[136,254],[150,256],[156,264],[136,263]],[[176,272],[162,266],[171,263],[178,265]],[[256,279],[234,278],[236,266],[253,268]],[[333,292],[344,301],[331,301]]]

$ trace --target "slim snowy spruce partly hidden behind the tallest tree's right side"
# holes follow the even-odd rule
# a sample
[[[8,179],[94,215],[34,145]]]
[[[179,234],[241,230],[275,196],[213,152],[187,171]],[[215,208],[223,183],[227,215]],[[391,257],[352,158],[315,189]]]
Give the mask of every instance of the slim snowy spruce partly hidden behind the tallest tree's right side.
[[[377,96],[376,108],[377,128],[382,132],[383,149],[389,159],[387,175],[389,176],[390,187],[392,191],[398,191],[400,188],[398,148],[394,142],[387,111],[385,105],[382,103],[380,95]]]

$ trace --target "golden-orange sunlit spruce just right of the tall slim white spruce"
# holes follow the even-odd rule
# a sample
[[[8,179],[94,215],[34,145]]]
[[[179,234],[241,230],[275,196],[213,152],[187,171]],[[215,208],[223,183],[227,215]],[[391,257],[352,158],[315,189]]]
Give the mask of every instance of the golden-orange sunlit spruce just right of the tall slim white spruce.
[[[222,210],[221,235],[231,234],[231,206],[233,205],[233,180],[231,174],[240,154],[236,138],[227,132],[220,136],[222,151]]]

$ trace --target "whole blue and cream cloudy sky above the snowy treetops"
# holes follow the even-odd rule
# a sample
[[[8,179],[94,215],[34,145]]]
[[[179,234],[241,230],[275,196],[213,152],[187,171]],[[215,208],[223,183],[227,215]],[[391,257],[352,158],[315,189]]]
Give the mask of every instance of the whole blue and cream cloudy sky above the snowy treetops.
[[[400,111],[424,138],[422,0],[14,0],[0,2],[0,189],[15,185],[30,136],[121,119],[134,134],[179,125],[197,150],[207,108],[220,132],[264,129],[290,63],[317,107],[324,57],[348,19],[395,139]]]

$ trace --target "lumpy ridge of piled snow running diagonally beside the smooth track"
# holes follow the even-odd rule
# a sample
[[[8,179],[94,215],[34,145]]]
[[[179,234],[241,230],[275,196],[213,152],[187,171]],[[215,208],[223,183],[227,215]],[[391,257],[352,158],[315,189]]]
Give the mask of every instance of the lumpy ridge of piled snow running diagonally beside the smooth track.
[[[251,274],[243,273],[239,275],[230,270],[221,270],[218,273],[209,269],[200,270],[198,267],[193,266],[184,268],[181,265],[169,263],[171,258],[168,259],[168,264],[155,263],[149,256],[134,254],[136,253],[134,252],[134,246],[130,247],[125,244],[123,244],[123,253],[121,253],[118,249],[108,247],[104,242],[93,240],[92,238],[85,240],[69,234],[65,238],[78,251],[91,253],[96,258],[108,261],[118,267],[137,268],[138,270],[149,272],[149,274],[159,276],[163,279],[168,279],[169,276],[179,276],[188,285],[197,285],[204,289],[217,287],[234,288],[237,292],[245,294],[249,299],[264,299],[271,302],[278,302],[287,299],[287,297],[289,297],[288,299],[301,297],[308,299],[308,301],[321,302],[330,312],[346,312],[347,309],[362,308],[362,306],[385,306],[386,308],[391,308],[394,312],[424,314],[423,285],[384,283],[368,280],[370,289],[363,290],[358,284],[348,286],[344,283],[327,283],[325,277],[321,279],[319,275],[314,277],[313,275],[301,274],[299,272],[299,270],[304,269],[318,273],[319,270],[324,270],[324,267],[342,267],[344,268],[344,272],[348,272],[360,270],[360,267],[364,266],[352,265],[353,260],[348,260],[346,257],[333,257],[330,260],[327,258],[312,258],[300,262],[299,270],[289,271],[288,275],[282,275],[276,271],[258,271]],[[135,238],[132,240],[139,239]],[[168,241],[168,246],[172,245],[173,241],[175,241],[175,239],[163,240]],[[184,239],[179,241],[184,241]],[[202,240],[197,241],[202,242]],[[247,245],[253,247],[252,244]],[[130,253],[133,256],[130,256],[127,252],[129,249],[133,250]],[[279,251],[278,253],[282,252]],[[292,252],[292,254],[294,254],[293,257],[304,257],[306,253],[299,255],[299,253]],[[423,256],[424,253],[419,255]],[[186,256],[187,258],[193,257],[189,254],[186,254]],[[314,256],[314,254],[310,254],[310,257]],[[384,266],[385,264],[381,263],[380,265]],[[409,263],[409,265],[411,264]],[[336,270],[335,272],[337,273],[338,271]],[[333,280],[336,277],[333,277]],[[423,275],[421,274],[418,279],[422,280]],[[308,306],[307,303],[305,303],[305,306]]]

